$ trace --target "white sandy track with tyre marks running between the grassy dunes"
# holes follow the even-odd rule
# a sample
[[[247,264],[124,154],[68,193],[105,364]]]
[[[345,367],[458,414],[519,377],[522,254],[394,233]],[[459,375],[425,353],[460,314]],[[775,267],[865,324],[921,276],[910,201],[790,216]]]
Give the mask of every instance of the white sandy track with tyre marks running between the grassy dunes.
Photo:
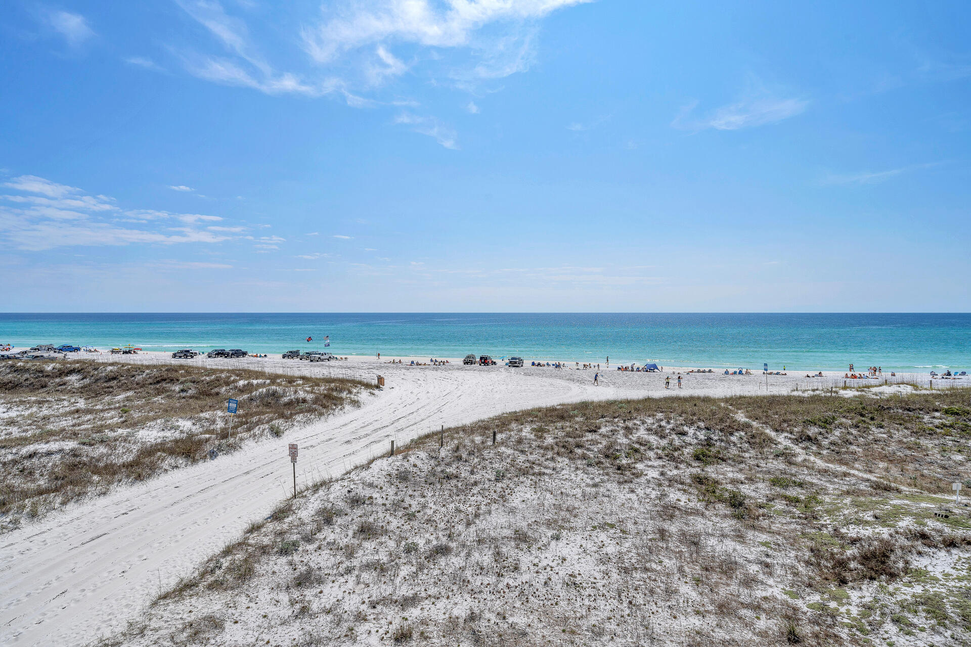
[[[298,481],[309,483],[385,452],[391,438],[400,443],[440,424],[632,395],[508,369],[391,372],[387,387],[280,440],[250,443],[0,536],[0,643],[83,645],[122,629],[290,496],[288,442],[299,444]]]

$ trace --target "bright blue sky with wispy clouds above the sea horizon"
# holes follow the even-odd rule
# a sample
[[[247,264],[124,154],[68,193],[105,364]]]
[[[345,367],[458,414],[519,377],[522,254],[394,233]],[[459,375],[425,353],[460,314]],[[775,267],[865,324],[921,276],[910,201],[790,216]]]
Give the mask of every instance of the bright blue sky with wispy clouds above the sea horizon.
[[[971,310],[966,2],[0,8],[6,311]]]

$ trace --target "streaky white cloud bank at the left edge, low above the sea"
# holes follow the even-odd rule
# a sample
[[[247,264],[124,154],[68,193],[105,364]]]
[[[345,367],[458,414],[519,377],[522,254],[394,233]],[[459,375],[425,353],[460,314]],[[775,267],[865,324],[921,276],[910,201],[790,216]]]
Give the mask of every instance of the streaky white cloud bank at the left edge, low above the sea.
[[[122,210],[113,198],[37,176],[12,178],[3,186],[17,193],[0,196],[2,246],[39,251],[69,245],[219,243],[229,238],[228,228],[200,226],[222,220],[216,215]]]

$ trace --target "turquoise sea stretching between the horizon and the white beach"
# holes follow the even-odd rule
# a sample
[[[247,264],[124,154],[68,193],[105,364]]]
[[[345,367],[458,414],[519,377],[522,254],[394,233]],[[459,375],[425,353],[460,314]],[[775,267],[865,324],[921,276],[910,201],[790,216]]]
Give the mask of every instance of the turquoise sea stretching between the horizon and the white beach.
[[[312,336],[314,341],[307,342]],[[667,366],[971,371],[971,314],[0,313],[0,342],[102,349],[497,357]]]

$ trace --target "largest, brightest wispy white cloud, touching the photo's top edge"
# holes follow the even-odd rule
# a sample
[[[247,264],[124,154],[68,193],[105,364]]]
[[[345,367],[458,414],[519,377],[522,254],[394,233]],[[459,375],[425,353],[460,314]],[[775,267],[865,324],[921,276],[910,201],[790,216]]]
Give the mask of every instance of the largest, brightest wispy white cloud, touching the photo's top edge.
[[[456,85],[494,80],[526,70],[535,49],[535,23],[552,12],[591,0],[354,0],[321,3],[316,15],[287,16],[301,24],[294,34],[314,65],[281,70],[262,51],[246,17],[218,0],[176,0],[204,27],[218,51],[173,49],[185,69],[207,81],[251,87],[267,94],[322,96],[337,91],[352,107],[372,107],[360,96],[408,73],[436,64]],[[295,7],[290,5],[290,7]],[[394,49],[408,49],[402,57]],[[444,61],[442,50],[456,50]],[[441,61],[441,63],[439,63]],[[139,64],[139,63],[133,63]],[[148,66],[145,66],[148,67]],[[356,89],[355,89],[356,88]]]

